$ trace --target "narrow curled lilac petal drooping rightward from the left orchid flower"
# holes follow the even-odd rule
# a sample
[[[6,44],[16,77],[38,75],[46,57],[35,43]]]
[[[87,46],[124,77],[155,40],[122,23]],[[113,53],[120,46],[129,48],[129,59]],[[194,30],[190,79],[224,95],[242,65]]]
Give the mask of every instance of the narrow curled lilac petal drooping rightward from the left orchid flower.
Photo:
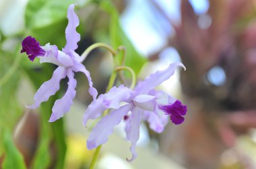
[[[92,98],[95,100],[98,95],[98,91],[94,87],[92,87],[93,82],[90,76],[90,72],[86,70],[86,67],[83,64],[80,64],[80,63],[76,63],[75,65],[73,65],[72,70],[74,72],[83,72],[86,75],[89,83],[89,93],[92,96]]]

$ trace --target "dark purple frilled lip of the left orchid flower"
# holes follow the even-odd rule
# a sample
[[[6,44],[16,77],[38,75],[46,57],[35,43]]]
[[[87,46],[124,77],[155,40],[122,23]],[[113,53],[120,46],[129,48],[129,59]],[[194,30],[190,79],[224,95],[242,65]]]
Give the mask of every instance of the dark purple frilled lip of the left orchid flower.
[[[20,52],[26,52],[32,62],[36,56],[44,56],[46,53],[40,48],[39,42],[37,42],[35,38],[32,38],[32,36],[28,36],[22,41],[22,50]]]

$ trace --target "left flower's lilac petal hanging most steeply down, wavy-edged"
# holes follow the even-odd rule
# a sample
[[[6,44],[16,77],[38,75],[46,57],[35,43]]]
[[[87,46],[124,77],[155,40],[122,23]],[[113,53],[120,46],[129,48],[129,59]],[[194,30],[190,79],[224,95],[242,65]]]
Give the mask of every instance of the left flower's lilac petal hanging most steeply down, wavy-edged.
[[[73,99],[75,98],[75,87],[76,87],[76,80],[74,78],[74,73],[72,70],[67,71],[67,77],[69,78],[69,82],[67,82],[67,92],[65,95],[61,98],[55,101],[55,104],[53,105],[53,113],[50,117],[49,122],[56,121],[57,119],[63,117],[67,111],[69,111],[71,105],[73,104]]]

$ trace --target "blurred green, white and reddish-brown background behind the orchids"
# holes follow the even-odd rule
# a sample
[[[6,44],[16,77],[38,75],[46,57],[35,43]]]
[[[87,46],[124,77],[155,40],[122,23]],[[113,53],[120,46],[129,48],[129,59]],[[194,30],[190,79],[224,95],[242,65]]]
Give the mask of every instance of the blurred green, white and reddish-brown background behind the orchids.
[[[95,42],[125,46],[125,64],[138,76],[183,62],[159,89],[188,107],[185,122],[161,134],[141,123],[138,158],[131,156],[123,124],[115,128],[96,168],[256,168],[256,1],[0,1],[0,164],[3,168],[88,168],[94,151],[82,116],[92,101],[87,81],[76,74],[77,95],[69,113],[49,123],[61,90],[31,111],[33,95],[55,66],[30,62],[21,42],[34,36],[43,46],[65,46],[67,7],[77,3],[82,54]],[[94,50],[84,64],[104,93],[113,71],[108,51]],[[118,84],[118,82],[117,82]],[[129,77],[127,77],[129,85]]]

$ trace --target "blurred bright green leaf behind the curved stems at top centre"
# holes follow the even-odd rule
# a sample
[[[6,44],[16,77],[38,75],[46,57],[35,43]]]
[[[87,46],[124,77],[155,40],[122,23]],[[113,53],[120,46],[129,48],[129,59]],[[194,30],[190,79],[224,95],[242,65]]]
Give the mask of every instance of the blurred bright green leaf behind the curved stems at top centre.
[[[123,32],[119,23],[119,13],[115,9],[113,3],[110,1],[102,1],[102,8],[110,14],[110,42],[111,46],[118,48],[119,46],[125,46],[127,51],[127,57],[125,59],[125,65],[131,67],[135,74],[139,73],[139,70],[146,63],[147,59],[141,56],[137,50],[131,44],[129,38]]]

